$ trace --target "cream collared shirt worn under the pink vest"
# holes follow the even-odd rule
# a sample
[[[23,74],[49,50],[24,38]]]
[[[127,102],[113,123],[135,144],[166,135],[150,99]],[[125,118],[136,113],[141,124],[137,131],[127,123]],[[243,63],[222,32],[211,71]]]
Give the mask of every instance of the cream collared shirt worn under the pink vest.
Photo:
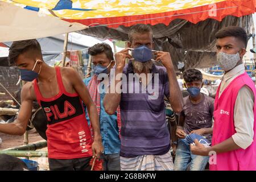
[[[240,64],[224,75],[220,85],[219,98],[230,82],[243,73],[245,73],[245,65]],[[253,107],[254,94],[248,86],[243,86],[238,92],[234,106],[234,125],[237,133],[232,135],[234,142],[243,149],[249,147],[251,142],[253,142]]]

